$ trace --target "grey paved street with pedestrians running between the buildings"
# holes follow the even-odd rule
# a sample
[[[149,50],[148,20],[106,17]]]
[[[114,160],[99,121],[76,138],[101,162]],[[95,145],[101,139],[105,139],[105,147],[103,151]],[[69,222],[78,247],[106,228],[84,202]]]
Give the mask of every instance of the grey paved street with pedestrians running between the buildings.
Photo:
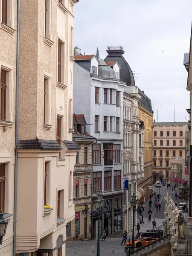
[[[155,190],[155,188],[153,188]],[[158,191],[159,192],[159,191]],[[175,201],[175,192],[172,192],[172,189],[167,188],[160,188],[160,204],[161,204],[161,211],[157,212],[156,209],[152,209],[152,218],[155,218],[156,220],[156,226],[163,225],[163,218],[164,218],[164,209],[165,209],[165,201],[164,201],[164,193],[169,192],[169,195],[172,196],[173,200]],[[153,198],[154,200],[154,198]],[[177,200],[178,201],[178,200]],[[145,204],[145,211],[143,212],[143,220],[144,224],[141,224],[140,231],[146,231],[147,229],[152,229],[152,221],[148,221],[148,204]],[[152,220],[151,218],[151,220]],[[136,235],[136,231],[135,231]],[[128,234],[128,239],[131,239],[132,233]],[[106,239],[105,241],[100,240],[100,252],[102,256],[125,256],[124,253],[124,246],[120,245],[122,241],[122,238],[111,238]],[[95,253],[92,253],[92,247],[95,247]],[[112,253],[112,247],[115,247],[115,253]],[[72,256],[74,255],[74,247],[77,248],[76,256],[96,256],[96,247],[97,247],[97,241],[67,241],[66,242],[66,256]]]

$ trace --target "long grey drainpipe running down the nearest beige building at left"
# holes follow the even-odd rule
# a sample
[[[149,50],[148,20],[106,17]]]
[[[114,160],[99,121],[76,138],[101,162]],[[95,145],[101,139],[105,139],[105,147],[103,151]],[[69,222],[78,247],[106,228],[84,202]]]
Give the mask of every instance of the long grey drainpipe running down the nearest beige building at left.
[[[17,57],[16,57],[16,95],[15,95],[15,180],[14,180],[14,211],[13,211],[13,256],[16,254],[17,224],[17,172],[18,172],[18,92],[19,92],[19,44],[20,44],[20,0],[17,0]]]

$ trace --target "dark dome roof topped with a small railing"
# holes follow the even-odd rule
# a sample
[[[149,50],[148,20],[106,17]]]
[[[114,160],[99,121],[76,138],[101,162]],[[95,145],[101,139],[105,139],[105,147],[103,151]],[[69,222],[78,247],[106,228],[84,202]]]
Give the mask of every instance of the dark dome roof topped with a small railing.
[[[104,61],[117,61],[120,68],[120,78],[127,84],[127,85],[134,85],[135,80],[134,75],[129,67],[129,64],[122,56],[124,54],[124,50],[121,46],[118,47],[108,47],[107,50],[108,56],[105,58]]]

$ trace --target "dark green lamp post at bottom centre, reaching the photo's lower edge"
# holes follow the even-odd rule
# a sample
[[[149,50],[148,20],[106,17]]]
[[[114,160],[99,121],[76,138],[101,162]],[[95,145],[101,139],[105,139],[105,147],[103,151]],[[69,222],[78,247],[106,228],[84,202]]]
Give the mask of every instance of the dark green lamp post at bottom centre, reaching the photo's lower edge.
[[[104,198],[103,194],[99,192],[97,194],[96,201],[93,202],[95,206],[95,210],[91,212],[93,216],[98,216],[98,226],[97,226],[97,254],[96,256],[100,256],[100,215],[103,215],[107,210],[105,210],[104,206]]]

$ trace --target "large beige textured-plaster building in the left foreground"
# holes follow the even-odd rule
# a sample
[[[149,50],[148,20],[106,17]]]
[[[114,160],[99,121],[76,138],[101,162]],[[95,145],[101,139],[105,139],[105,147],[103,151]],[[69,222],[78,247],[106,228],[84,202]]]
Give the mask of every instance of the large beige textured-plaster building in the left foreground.
[[[9,220],[0,255],[64,256],[66,225],[75,217],[73,8],[79,0],[0,2],[0,207]]]

